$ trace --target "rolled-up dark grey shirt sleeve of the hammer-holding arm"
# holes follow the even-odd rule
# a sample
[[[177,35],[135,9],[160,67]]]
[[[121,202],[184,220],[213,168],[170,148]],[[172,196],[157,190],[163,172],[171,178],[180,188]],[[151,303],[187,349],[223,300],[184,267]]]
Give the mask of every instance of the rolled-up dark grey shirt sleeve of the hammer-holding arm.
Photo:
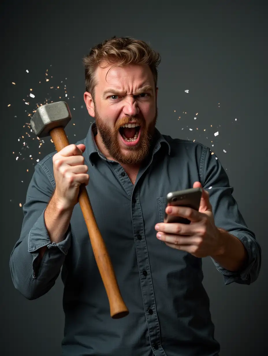
[[[49,158],[48,158],[49,159]],[[10,256],[11,278],[16,289],[27,299],[36,299],[55,284],[70,247],[70,225],[64,240],[51,243],[44,221],[44,211],[54,191],[54,179],[45,161],[35,167],[23,205],[19,240]],[[47,246],[42,260],[39,249]]]

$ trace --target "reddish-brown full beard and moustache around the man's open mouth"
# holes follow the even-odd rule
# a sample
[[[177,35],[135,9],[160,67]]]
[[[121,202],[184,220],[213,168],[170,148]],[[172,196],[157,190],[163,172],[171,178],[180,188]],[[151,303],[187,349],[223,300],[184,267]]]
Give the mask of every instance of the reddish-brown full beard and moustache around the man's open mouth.
[[[95,106],[96,108],[96,106]],[[114,129],[111,129],[106,122],[104,122],[98,112],[95,110],[95,121],[98,133],[100,134],[101,141],[104,147],[108,151],[109,155],[121,164],[137,164],[141,163],[149,154],[151,144],[153,142],[153,136],[157,121],[157,108],[156,115],[152,122],[148,125],[148,129],[145,127],[145,120],[142,118],[130,118],[124,117],[118,120],[115,124]],[[118,132],[120,126],[126,124],[128,121],[135,121],[139,126],[141,126],[141,136],[140,141],[137,146],[126,146],[125,149],[127,153],[122,153],[118,142]]]

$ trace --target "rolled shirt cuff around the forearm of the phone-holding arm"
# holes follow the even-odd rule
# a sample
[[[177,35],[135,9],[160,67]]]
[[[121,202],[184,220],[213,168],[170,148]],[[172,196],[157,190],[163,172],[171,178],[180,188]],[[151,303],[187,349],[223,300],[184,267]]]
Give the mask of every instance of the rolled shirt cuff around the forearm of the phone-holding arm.
[[[246,263],[246,267],[240,271],[228,271],[228,269],[225,269],[224,267],[220,266],[219,263],[217,263],[212,257],[212,261],[214,262],[214,265],[216,266],[217,270],[222,273],[224,277],[224,283],[230,284],[232,282],[237,282],[241,284],[250,284],[251,283],[251,274],[250,271],[256,261],[257,258],[257,252],[256,252],[256,247],[255,244],[253,244],[253,238],[246,234],[245,232],[237,232],[237,231],[228,231],[229,234],[232,234],[233,236],[237,237],[244,247],[246,248],[246,251],[248,253],[248,260]]]

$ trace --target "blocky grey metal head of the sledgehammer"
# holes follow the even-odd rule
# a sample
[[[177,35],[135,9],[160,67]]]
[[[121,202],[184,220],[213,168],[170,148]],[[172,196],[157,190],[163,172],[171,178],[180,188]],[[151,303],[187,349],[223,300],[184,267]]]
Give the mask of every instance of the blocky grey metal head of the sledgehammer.
[[[33,115],[30,123],[33,132],[38,137],[49,136],[49,131],[55,127],[65,127],[72,115],[65,101],[40,106]]]

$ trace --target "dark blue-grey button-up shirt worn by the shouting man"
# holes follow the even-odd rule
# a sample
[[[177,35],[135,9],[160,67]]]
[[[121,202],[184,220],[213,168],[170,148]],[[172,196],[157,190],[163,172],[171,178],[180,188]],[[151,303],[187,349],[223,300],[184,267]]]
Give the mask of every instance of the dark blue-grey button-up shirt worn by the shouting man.
[[[248,252],[243,271],[227,271],[214,261],[224,283],[256,280],[261,248],[238,210],[219,159],[201,143],[156,130],[151,153],[133,186],[122,166],[98,150],[95,134],[93,122],[78,143],[86,146],[89,199],[129,315],[116,320],[110,316],[79,204],[65,239],[58,244],[49,240],[44,210],[55,188],[56,152],[38,162],[28,187],[21,236],[10,257],[14,286],[27,299],[36,299],[53,287],[62,267],[64,356],[218,355],[202,260],[159,241],[154,226],[163,222],[167,193],[201,182],[209,192],[216,226],[240,239]],[[48,248],[38,267],[42,246]]]

